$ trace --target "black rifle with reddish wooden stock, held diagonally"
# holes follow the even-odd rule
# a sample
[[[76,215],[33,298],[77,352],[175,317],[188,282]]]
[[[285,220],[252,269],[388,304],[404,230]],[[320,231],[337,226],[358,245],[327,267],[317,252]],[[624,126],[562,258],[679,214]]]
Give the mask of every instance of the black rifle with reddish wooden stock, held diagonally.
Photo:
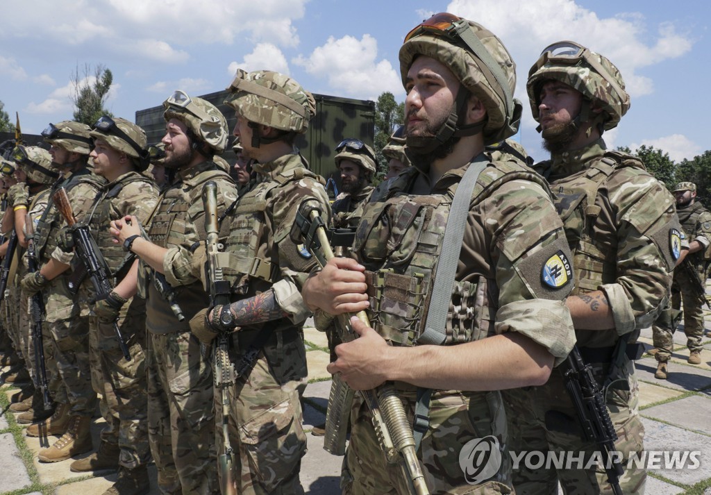
[[[67,221],[67,225],[72,229],[75,255],[79,257],[82,265],[84,265],[86,269],[87,275],[94,286],[96,299],[105,299],[114,289],[112,277],[109,275],[111,270],[109,270],[109,266],[101,254],[99,246],[97,246],[96,241],[92,237],[89,226],[79,225],[77,223],[65,188],[58,188],[57,192],[53,194],[52,199],[55,205],[57,205],[59,212]],[[116,320],[114,320],[114,332],[119,341],[119,347],[124,354],[124,358],[126,358],[126,361],[131,361],[131,353],[129,353],[129,348],[121,335],[121,329],[119,329],[119,324]]]

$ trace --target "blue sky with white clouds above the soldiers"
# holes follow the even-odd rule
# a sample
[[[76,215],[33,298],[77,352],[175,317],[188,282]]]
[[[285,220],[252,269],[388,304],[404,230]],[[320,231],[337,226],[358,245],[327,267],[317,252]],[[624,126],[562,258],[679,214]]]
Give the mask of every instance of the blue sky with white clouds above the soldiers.
[[[311,92],[405,100],[398,51],[410,29],[448,11],[481,23],[517,64],[524,112],[518,139],[547,154],[525,80],[550,43],[602,53],[624,77],[631,109],[604,134],[610,148],[641,145],[674,161],[707,144],[711,2],[678,0],[24,0],[0,30],[0,101],[22,131],[71,119],[73,75],[109,68],[107,110],[135,120],[173,90],[225,89],[237,68],[276,70]]]

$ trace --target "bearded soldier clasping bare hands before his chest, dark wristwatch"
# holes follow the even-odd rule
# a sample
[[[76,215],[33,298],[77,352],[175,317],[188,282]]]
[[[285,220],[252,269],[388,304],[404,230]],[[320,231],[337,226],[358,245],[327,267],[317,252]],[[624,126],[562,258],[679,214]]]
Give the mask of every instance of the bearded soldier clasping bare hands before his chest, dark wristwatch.
[[[213,161],[225,150],[227,121],[215,105],[183,91],[163,105],[164,165],[176,176],[151,214],[150,240],[135,216],[113,220],[110,232],[141,259],[139,295],[146,295],[149,331],[148,433],[159,490],[218,494],[210,358],[188,321],[208,305],[203,285],[190,275],[193,250],[205,238],[203,184],[217,183],[220,213],[237,198],[232,179]]]

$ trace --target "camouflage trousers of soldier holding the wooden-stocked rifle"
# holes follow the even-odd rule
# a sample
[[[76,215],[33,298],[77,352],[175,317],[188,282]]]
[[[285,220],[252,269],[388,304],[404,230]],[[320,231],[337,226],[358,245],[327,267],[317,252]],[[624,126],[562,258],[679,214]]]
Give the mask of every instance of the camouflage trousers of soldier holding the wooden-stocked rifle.
[[[126,361],[114,324],[91,316],[89,335],[92,385],[102,395],[101,411],[106,427],[101,440],[118,445],[119,464],[135,469],[150,460],[148,446],[148,395],[146,390],[146,313],[126,304],[117,320],[131,355]],[[127,308],[128,307],[128,310]]]

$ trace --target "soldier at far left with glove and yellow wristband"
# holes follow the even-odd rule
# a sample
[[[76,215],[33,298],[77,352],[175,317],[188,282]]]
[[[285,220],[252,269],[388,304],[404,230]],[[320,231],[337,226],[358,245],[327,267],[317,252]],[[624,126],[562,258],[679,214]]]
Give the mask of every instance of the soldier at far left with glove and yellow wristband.
[[[14,176],[17,183],[10,188],[8,192],[8,212],[3,219],[3,227],[14,228],[17,235],[18,248],[15,253],[16,278],[20,280],[27,275],[26,262],[23,262],[22,257],[24,249],[27,248],[27,237],[25,230],[26,215],[29,213],[32,218],[38,218],[38,215],[44,211],[47,204],[49,187],[54,183],[59,174],[51,169],[50,163],[52,156],[49,151],[40,147],[24,147],[18,146],[14,152],[15,163],[17,164]],[[21,352],[24,359],[26,369],[30,371],[35,383],[38,383],[38,370],[34,361],[34,351],[31,344],[33,336],[30,331],[30,321],[28,316],[28,301],[24,297],[20,297],[20,290],[14,283],[14,280],[9,280],[8,289],[10,294],[6,297],[5,304],[9,304],[17,308],[16,318],[12,326],[14,336],[17,341],[18,351]],[[48,351],[45,353],[46,370],[48,380],[56,373],[56,363],[51,354],[51,339],[48,335],[43,334],[43,342]],[[39,386],[35,388],[34,393],[22,402],[10,405],[10,410],[14,412],[24,412],[31,408],[36,408],[43,403],[42,394]]]

